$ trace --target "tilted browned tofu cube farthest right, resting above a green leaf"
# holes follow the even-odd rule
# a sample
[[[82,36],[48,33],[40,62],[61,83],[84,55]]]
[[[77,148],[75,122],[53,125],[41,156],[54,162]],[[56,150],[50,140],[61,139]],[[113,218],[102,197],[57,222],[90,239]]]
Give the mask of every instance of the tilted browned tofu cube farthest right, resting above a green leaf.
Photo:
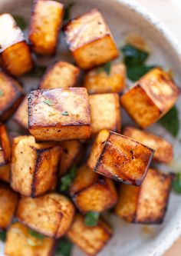
[[[179,88],[161,68],[154,68],[133,85],[120,102],[141,128],[158,121],[176,103]]]

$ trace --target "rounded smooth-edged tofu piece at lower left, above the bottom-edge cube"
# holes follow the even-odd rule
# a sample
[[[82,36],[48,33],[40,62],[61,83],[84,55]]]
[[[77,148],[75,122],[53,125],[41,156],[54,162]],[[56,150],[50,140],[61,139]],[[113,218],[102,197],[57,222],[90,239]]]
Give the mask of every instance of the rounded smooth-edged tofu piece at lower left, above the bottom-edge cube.
[[[24,197],[18,204],[17,218],[41,234],[61,238],[73,221],[74,205],[64,195],[57,193],[38,198]]]

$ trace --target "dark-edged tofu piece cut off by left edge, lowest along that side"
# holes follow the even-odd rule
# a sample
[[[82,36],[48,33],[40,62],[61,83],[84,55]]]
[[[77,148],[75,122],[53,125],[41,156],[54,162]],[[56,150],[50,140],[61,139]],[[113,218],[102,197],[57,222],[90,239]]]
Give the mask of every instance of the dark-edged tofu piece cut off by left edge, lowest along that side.
[[[0,184],[0,228],[5,229],[11,223],[18,204],[18,194],[8,185]]]

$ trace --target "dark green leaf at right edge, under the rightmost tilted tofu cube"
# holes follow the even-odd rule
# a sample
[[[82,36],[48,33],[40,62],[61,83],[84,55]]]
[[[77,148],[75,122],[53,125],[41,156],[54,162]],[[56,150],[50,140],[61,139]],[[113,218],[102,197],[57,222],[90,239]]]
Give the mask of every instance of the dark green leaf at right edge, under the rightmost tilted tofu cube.
[[[176,106],[171,108],[158,122],[166,128],[171,135],[176,137],[179,133],[179,111]]]

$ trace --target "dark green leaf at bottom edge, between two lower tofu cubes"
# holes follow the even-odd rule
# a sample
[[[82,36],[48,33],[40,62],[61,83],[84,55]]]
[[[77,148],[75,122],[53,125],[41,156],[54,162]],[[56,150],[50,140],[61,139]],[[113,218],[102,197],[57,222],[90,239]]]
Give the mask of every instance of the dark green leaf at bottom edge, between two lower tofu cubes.
[[[58,246],[56,250],[56,254],[61,256],[71,256],[71,251],[73,248],[73,244],[67,238],[61,238],[58,241]]]

